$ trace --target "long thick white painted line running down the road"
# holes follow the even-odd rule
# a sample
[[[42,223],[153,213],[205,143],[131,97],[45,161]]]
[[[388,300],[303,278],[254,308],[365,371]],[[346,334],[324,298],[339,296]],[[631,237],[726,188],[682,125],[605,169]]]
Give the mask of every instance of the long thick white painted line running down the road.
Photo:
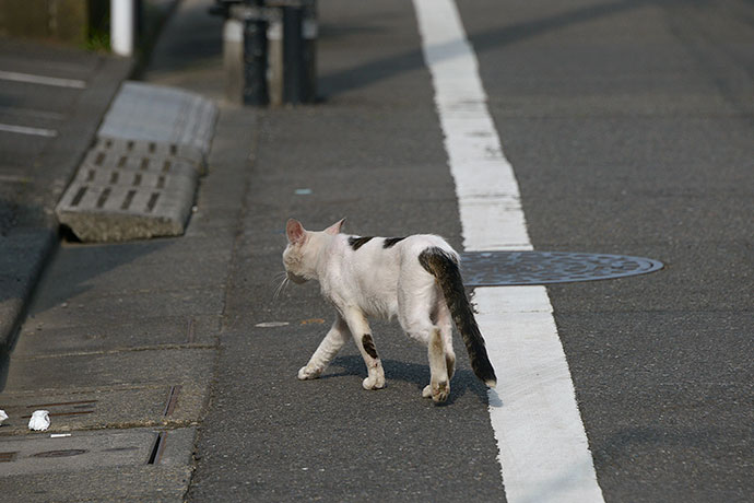
[[[414,0],[467,250],[532,249],[518,183],[452,0]],[[544,286],[478,288],[497,371],[490,418],[509,503],[599,503],[587,435]]]

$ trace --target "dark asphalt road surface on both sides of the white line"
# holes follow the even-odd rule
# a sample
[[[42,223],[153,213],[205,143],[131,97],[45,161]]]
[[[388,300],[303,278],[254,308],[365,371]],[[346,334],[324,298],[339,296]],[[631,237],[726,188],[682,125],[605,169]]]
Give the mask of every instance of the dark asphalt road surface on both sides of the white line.
[[[547,288],[604,500],[747,501],[751,4],[459,3],[535,249],[665,264]],[[352,347],[295,378],[332,315],[316,285],[272,297],[288,217],[461,247],[412,5],[321,2],[320,23],[322,103],[260,112],[231,147],[245,198],[189,501],[505,501],[460,348],[444,407],[420,398],[425,350],[396,325],[373,327],[386,389],[361,388]]]

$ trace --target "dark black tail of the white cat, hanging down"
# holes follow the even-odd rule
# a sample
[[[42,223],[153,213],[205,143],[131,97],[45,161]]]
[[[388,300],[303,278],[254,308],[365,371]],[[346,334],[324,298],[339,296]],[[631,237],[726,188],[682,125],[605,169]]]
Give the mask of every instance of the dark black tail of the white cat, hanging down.
[[[471,360],[471,369],[484,384],[494,388],[497,384],[495,370],[490,363],[487,350],[484,346],[484,338],[479,331],[474,313],[463,290],[463,280],[458,267],[458,259],[455,255],[438,248],[427,248],[419,255],[419,261],[424,269],[437,278],[437,282],[443,289],[445,303],[450,309],[458,331],[463,337],[466,349]]]

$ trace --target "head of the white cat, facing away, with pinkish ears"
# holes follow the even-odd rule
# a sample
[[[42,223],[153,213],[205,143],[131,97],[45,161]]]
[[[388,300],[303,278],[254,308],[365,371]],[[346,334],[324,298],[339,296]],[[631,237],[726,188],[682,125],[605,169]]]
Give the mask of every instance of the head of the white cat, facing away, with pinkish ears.
[[[317,279],[317,259],[319,250],[328,236],[334,236],[343,226],[345,219],[337,222],[325,231],[314,232],[304,229],[296,219],[290,219],[285,224],[288,245],[283,252],[283,266],[287,278],[294,283],[305,283]]]

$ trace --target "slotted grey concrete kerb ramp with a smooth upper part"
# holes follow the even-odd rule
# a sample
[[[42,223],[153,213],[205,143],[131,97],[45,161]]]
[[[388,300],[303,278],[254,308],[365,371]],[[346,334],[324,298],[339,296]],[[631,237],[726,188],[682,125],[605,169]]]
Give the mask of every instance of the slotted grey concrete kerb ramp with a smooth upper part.
[[[85,242],[181,235],[217,107],[193,93],[126,82],[56,213]]]

